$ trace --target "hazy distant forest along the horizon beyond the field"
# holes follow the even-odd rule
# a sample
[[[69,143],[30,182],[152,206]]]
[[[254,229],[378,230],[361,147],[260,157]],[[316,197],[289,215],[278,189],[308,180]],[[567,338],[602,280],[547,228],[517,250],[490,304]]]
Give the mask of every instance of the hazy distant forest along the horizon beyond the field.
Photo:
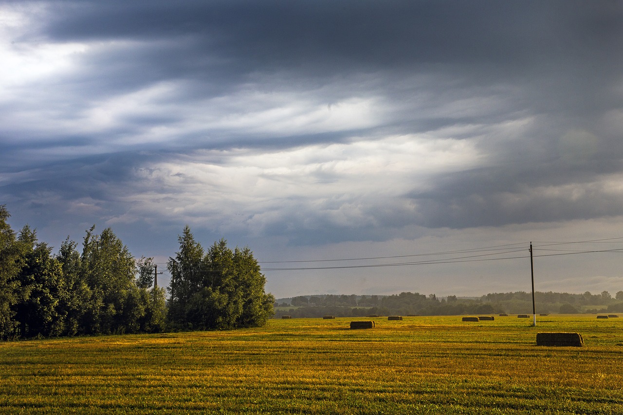
[[[536,313],[623,312],[623,291],[615,297],[585,292],[570,294],[535,292]],[[490,293],[480,298],[455,295],[438,298],[435,294],[402,292],[394,295],[300,295],[280,298],[275,303],[275,317],[362,317],[365,315],[465,315],[532,313],[532,293]]]

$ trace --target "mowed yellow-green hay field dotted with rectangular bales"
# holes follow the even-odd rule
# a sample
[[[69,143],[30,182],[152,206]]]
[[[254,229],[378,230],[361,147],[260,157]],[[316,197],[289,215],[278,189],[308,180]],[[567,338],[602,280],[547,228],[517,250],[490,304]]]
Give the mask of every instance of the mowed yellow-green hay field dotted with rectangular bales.
[[[461,320],[4,342],[0,413],[623,414],[623,318]]]

